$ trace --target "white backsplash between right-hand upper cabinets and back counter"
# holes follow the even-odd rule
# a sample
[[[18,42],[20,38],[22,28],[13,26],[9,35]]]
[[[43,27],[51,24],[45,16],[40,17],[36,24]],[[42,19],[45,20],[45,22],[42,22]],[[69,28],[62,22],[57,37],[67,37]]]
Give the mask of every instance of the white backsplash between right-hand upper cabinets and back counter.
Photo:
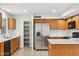
[[[79,30],[50,30],[49,36],[72,36],[73,32],[79,32]]]

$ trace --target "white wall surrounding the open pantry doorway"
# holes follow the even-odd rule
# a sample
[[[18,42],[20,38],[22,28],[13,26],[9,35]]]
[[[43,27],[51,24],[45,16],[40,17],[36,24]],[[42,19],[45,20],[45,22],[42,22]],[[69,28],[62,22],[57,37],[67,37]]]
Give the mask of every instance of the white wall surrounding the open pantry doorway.
[[[31,21],[31,16],[17,16],[17,17],[15,17],[16,18],[16,20],[17,20],[17,33],[18,33],[18,35],[20,35],[20,37],[21,37],[21,41],[20,41],[20,47],[21,48],[23,48],[24,47],[24,21],[29,21],[30,22],[30,26],[31,26],[31,23],[32,23],[32,21]],[[32,27],[30,27],[30,28],[32,28]],[[31,34],[32,32],[31,32],[31,30],[30,30],[30,47],[32,47],[32,38],[31,38],[31,36],[32,36],[32,34]]]

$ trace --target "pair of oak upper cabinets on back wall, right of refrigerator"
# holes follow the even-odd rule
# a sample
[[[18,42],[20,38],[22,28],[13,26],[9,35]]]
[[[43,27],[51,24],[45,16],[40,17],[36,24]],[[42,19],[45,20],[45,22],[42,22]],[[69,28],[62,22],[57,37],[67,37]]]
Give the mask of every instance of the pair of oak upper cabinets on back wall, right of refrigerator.
[[[50,19],[50,30],[65,30],[66,29],[66,20],[65,19]]]

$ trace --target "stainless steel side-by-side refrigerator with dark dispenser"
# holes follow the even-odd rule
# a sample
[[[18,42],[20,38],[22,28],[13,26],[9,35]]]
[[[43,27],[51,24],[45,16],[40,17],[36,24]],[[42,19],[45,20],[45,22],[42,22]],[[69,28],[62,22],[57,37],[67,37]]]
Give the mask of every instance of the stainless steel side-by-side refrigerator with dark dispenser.
[[[48,41],[47,37],[49,35],[49,24],[48,23],[35,23],[35,40],[34,45],[36,50],[47,50]]]

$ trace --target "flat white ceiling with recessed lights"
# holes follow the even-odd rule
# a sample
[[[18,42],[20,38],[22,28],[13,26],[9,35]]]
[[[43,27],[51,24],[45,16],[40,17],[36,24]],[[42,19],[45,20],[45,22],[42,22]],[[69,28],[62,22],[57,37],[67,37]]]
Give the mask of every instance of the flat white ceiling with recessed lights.
[[[78,3],[0,3],[0,9],[12,15],[52,15],[53,17],[61,17],[72,11]],[[73,8],[74,7],[74,8]],[[25,12],[24,12],[25,10]],[[52,12],[55,10],[56,12]],[[77,13],[77,12],[76,12]]]

